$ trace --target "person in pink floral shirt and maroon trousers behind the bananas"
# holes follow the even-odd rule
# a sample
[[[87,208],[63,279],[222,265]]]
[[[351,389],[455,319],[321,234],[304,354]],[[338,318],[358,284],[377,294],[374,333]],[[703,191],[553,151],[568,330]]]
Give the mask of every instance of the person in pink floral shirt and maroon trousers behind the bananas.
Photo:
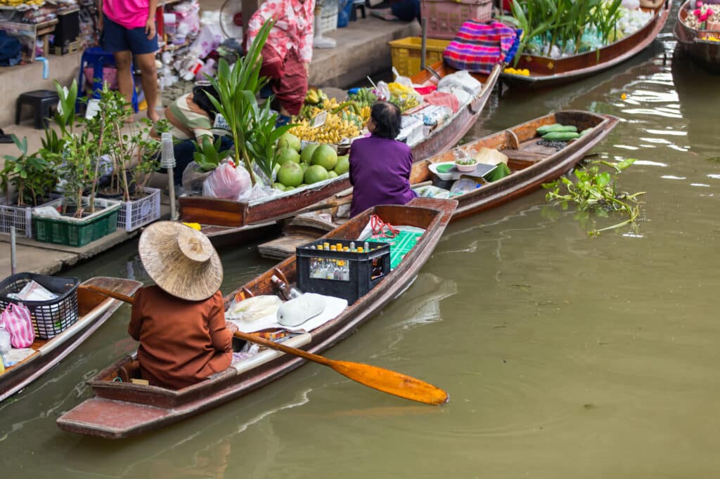
[[[263,24],[269,19],[275,21],[263,47],[260,74],[271,79],[270,87],[283,117],[281,123],[300,113],[305,100],[314,9],[315,0],[265,0],[248,22],[249,47]]]

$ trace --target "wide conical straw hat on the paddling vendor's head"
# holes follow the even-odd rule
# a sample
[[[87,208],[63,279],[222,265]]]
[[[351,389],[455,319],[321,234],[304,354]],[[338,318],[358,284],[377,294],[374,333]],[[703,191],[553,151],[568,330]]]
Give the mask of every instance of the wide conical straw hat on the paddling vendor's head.
[[[222,284],[222,263],[210,239],[179,222],[156,222],[140,236],[140,260],[166,293],[188,301],[210,298]]]

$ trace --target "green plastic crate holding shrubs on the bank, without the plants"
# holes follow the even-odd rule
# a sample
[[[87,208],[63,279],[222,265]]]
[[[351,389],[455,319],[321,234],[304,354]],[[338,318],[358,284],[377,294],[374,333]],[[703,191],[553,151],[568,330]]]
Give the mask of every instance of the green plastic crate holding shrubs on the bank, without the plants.
[[[67,200],[66,200],[67,201]],[[84,206],[90,199],[83,196]],[[115,231],[120,201],[95,199],[95,211],[82,218],[32,211],[32,229],[35,239],[40,242],[80,247]]]

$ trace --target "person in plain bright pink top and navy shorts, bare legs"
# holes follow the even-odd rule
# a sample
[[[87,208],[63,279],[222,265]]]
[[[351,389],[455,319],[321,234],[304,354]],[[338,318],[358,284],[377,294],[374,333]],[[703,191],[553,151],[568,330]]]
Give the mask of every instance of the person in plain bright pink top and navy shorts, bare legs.
[[[158,104],[158,70],[155,54],[158,51],[158,35],[155,16],[158,0],[98,0],[102,9],[99,29],[102,31],[102,47],[115,58],[117,86],[127,103],[132,101],[132,56],[140,67],[148,118],[160,119]]]

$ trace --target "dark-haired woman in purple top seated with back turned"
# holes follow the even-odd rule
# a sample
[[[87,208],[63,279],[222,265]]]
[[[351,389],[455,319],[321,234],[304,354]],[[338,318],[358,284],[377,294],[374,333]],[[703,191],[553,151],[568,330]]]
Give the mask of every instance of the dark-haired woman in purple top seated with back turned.
[[[370,137],[355,140],[350,147],[350,216],[379,204],[406,204],[417,197],[410,189],[413,153],[395,140],[401,119],[395,104],[378,101],[367,121]]]

